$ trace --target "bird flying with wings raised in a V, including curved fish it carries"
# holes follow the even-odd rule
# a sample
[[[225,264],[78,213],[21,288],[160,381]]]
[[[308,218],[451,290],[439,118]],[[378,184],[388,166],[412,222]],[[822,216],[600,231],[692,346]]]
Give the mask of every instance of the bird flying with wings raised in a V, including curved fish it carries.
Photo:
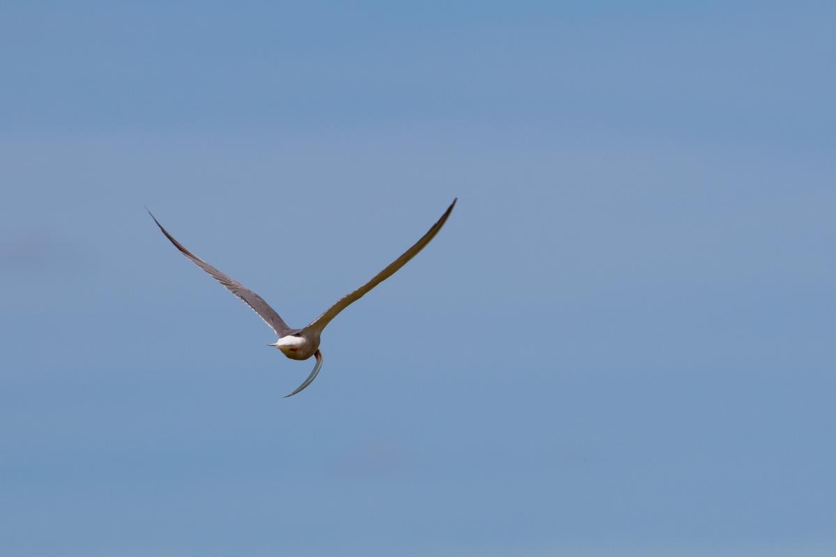
[[[154,219],[156,225],[160,227],[163,235],[171,241],[181,254],[186,256],[186,259],[194,263],[196,266],[199,266],[216,281],[220,282],[227,288],[228,291],[231,291],[232,294],[240,298],[245,304],[247,304],[247,306],[250,306],[252,311],[255,311],[258,316],[268,324],[268,326],[273,328],[273,332],[278,335],[278,340],[276,342],[268,343],[268,346],[278,348],[284,356],[290,358],[291,360],[307,360],[309,357],[314,357],[316,360],[314,370],[310,372],[308,377],[296,388],[296,390],[288,395],[285,395],[285,398],[287,398],[293,397],[293,395],[302,392],[306,387],[308,387],[308,385],[314,382],[314,379],[319,374],[319,370],[322,368],[322,351],[319,350],[319,341],[324,328],[327,327],[331,320],[339,315],[341,311],[368,294],[375,286],[394,275],[400,267],[406,264],[407,261],[410,261],[410,259],[418,255],[418,252],[423,250],[436,236],[436,234],[438,234],[441,227],[444,226],[447,218],[450,217],[453,207],[456,206],[457,200],[458,198],[454,199],[450,206],[447,207],[447,210],[444,211],[444,214],[441,215],[441,218],[436,221],[436,224],[432,225],[430,230],[427,230],[426,234],[422,235],[421,239],[416,241],[415,244],[413,244],[408,250],[404,251],[400,257],[395,259],[395,261],[392,261],[383,271],[380,271],[363,286],[360,286],[358,289],[351,291],[349,294],[340,298],[333,306],[330,306],[319,317],[314,319],[314,321],[308,323],[308,325],[302,327],[301,329],[288,327],[288,324],[284,322],[273,307],[264,301],[263,297],[258,296],[255,292],[233,279],[232,276],[229,276],[222,271],[218,271],[215,267],[209,265],[206,261],[203,261],[200,257],[191,253],[191,251],[186,249],[186,246],[183,246],[179,241],[176,241],[174,236],[169,234],[168,230],[160,224],[160,221],[156,219],[147,207],[145,207],[145,210],[148,210],[148,214],[152,219]]]

